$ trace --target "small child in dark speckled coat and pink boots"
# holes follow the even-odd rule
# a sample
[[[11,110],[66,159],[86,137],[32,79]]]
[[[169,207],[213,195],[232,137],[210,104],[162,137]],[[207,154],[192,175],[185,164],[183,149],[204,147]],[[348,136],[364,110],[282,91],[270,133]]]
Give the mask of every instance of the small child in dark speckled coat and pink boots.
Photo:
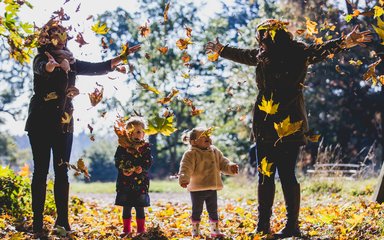
[[[144,140],[144,129],[144,120],[132,117],[127,121],[124,134],[118,134],[119,146],[115,153],[115,166],[119,173],[115,205],[123,206],[124,228],[121,236],[131,234],[133,207],[136,210],[137,233],[145,232],[144,207],[150,206],[148,170],[152,165],[152,156],[150,145]],[[122,138],[124,136],[125,140]]]

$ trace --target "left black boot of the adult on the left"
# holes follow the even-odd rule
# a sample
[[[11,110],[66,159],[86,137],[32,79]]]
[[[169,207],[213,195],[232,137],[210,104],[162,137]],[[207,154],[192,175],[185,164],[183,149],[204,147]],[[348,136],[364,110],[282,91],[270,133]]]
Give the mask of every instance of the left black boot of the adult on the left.
[[[37,183],[32,180],[32,212],[33,212],[33,233],[40,234],[43,232],[43,212],[45,204],[47,184]]]

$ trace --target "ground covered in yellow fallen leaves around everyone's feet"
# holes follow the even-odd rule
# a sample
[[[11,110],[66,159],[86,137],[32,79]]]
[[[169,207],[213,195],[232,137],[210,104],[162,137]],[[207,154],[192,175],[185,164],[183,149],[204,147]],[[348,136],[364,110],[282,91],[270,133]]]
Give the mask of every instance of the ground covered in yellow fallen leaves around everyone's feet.
[[[325,186],[325,187],[324,187]],[[300,212],[302,239],[384,239],[384,204],[371,201],[372,189],[354,192],[354,195],[339,191],[330,185],[303,188]],[[310,191],[309,191],[310,190]],[[335,193],[332,193],[335,192]],[[185,193],[186,194],[186,193]],[[180,196],[185,196],[181,193]],[[148,233],[134,239],[190,239],[191,206],[185,197],[177,194],[154,194],[152,206],[147,208]],[[274,205],[272,231],[284,226],[285,207],[280,200]],[[112,195],[113,196],[113,195]],[[84,198],[87,199],[87,198]],[[108,202],[108,203],[106,203]],[[110,201],[85,200],[72,197],[71,218],[74,230],[67,239],[118,239],[122,231],[121,209]],[[221,199],[219,201],[222,230],[225,239],[266,239],[266,236],[252,236],[257,219],[257,200],[252,197]],[[46,216],[48,239],[63,239],[60,233],[51,230],[53,216]],[[136,224],[133,222],[133,229]],[[22,223],[14,222],[9,216],[0,218],[0,236],[6,239],[31,239],[31,218]],[[208,217],[202,219],[202,232],[209,239]],[[298,238],[296,238],[298,239]]]

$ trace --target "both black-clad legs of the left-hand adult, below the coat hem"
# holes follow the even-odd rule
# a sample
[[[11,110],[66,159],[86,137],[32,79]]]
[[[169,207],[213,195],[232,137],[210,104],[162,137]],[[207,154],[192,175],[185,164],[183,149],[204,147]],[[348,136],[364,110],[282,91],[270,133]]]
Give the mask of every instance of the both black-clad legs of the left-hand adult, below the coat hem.
[[[32,177],[32,210],[34,213],[34,226],[37,231],[42,227],[42,214],[44,211],[46,181],[53,153],[53,169],[55,172],[54,194],[57,209],[57,224],[68,226],[68,168],[73,134],[56,131],[30,131],[28,133],[33,155]]]

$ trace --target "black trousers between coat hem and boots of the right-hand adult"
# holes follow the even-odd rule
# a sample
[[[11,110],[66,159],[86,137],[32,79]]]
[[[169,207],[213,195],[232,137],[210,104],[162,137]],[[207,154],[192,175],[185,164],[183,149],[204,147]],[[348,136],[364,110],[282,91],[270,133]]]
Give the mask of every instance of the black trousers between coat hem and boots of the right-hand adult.
[[[283,139],[284,141],[284,139]],[[273,163],[271,166],[272,174],[270,177],[262,175],[259,172],[259,184],[273,185],[275,182],[276,169],[279,173],[279,178],[282,185],[298,184],[295,168],[299,154],[300,144],[298,143],[273,143],[257,142],[257,161],[260,166],[264,157],[267,157],[268,163]]]

